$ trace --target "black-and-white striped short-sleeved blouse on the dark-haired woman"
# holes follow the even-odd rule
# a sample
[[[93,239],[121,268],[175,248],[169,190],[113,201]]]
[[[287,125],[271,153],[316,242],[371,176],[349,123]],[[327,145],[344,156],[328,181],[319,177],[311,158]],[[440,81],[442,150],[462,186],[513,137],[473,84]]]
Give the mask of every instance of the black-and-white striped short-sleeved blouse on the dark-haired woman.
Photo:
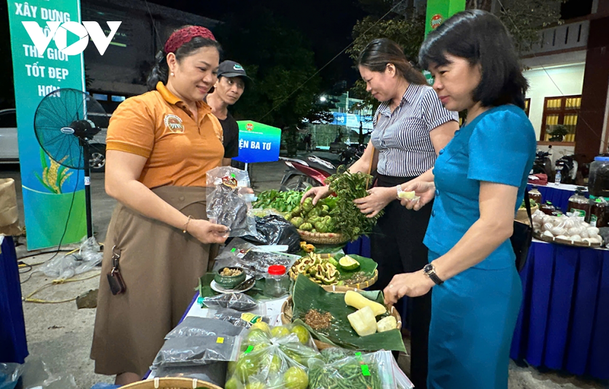
[[[379,150],[378,172],[417,177],[434,167],[436,155],[429,132],[451,120],[459,121],[459,113],[446,110],[428,85],[411,83],[393,113],[389,103],[381,103],[373,118],[370,141]]]

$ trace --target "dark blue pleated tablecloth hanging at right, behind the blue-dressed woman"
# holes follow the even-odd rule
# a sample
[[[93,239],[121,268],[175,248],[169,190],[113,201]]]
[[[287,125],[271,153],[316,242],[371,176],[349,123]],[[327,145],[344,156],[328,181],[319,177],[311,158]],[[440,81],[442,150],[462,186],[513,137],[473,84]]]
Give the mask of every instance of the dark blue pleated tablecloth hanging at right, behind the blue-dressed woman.
[[[533,242],[512,359],[609,379],[609,250]]]

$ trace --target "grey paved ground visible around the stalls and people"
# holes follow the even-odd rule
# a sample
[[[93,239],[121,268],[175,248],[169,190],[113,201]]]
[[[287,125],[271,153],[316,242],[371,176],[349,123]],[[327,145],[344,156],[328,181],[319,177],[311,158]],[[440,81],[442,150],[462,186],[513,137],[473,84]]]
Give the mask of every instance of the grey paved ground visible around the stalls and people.
[[[283,177],[283,163],[254,164],[252,177],[256,191],[277,188]],[[18,183],[19,207],[23,220],[23,204],[21,204],[20,179],[17,166],[0,165],[0,178],[15,178]],[[91,177],[91,192],[93,198],[93,223],[97,239],[103,242],[105,230],[114,200],[104,192],[104,176],[93,174]],[[27,255],[24,245],[18,247],[20,256]],[[37,264],[49,259],[52,254],[40,254],[23,258],[24,262]],[[34,267],[34,270],[36,267]],[[95,273],[91,273],[94,275]],[[51,280],[41,273],[29,272],[21,275],[23,294],[45,286]],[[91,278],[80,282],[48,287],[37,293],[36,297],[44,300],[63,300],[76,297],[90,289],[96,289],[99,278]],[[35,304],[24,303],[26,317],[27,340],[30,351],[29,361],[42,361],[51,373],[58,376],[71,374],[74,376],[76,388],[88,389],[96,382],[111,382],[107,376],[93,373],[93,361],[89,359],[91,337],[93,335],[94,309],[77,309],[76,303]],[[409,342],[407,347],[409,346]],[[407,357],[400,360],[400,365],[407,366]],[[544,372],[535,368],[522,368],[513,362],[510,365],[509,389],[602,389],[609,388],[607,383],[595,380],[584,380],[574,376],[555,372]],[[62,388],[72,389],[72,388]]]

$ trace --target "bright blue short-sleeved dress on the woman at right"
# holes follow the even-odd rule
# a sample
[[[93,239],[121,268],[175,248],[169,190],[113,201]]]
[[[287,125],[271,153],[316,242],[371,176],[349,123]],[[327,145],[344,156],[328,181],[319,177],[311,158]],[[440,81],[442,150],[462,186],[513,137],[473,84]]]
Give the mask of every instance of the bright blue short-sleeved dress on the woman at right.
[[[491,108],[455,133],[435,163],[435,202],[424,239],[429,261],[446,254],[480,217],[481,181],[518,187],[521,204],[535,131],[514,105]],[[516,209],[515,209],[516,211]],[[510,241],[432,289],[429,389],[507,388],[522,286]]]

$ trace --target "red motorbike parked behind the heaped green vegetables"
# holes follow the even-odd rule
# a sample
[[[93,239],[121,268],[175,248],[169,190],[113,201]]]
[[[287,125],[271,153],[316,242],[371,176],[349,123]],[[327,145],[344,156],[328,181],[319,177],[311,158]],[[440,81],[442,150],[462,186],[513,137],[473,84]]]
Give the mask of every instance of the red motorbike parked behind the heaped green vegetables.
[[[304,192],[308,187],[324,186],[326,178],[336,173],[334,164],[316,155],[308,155],[303,159],[279,159],[288,167],[281,180],[281,191]]]

